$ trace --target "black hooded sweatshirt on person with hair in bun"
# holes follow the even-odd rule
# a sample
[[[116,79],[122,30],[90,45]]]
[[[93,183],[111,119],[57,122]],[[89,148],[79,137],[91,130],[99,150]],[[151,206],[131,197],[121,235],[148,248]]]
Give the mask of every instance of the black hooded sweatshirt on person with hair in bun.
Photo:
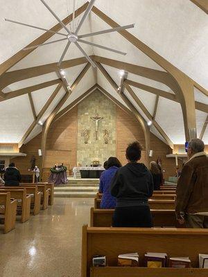
[[[143,163],[128,163],[117,170],[110,192],[117,207],[147,205],[153,195],[153,177]]]

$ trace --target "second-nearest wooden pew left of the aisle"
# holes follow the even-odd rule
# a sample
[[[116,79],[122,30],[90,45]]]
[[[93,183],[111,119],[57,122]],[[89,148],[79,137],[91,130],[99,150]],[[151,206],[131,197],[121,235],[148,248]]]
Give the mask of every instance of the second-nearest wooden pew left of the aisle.
[[[26,188],[23,189],[8,189],[1,188],[0,193],[10,193],[11,198],[21,200],[21,223],[26,222],[31,214],[31,195],[26,194]],[[18,206],[18,201],[17,201]]]

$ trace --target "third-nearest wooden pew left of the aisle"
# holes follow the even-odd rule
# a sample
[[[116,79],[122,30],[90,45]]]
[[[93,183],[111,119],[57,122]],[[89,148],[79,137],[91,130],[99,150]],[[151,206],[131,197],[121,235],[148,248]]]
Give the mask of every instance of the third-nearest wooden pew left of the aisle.
[[[37,186],[1,186],[0,188],[10,190],[25,188],[26,194],[31,195],[31,209],[33,210],[33,215],[38,215],[40,213],[41,193],[37,190]]]

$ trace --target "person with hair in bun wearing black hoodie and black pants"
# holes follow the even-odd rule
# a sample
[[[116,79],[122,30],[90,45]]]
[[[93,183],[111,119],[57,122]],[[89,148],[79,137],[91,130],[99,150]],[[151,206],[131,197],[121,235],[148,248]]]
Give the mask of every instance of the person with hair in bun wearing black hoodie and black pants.
[[[141,145],[138,141],[126,149],[127,165],[116,171],[110,192],[116,197],[113,215],[114,227],[152,227],[153,220],[148,198],[153,195],[153,177],[141,159]]]

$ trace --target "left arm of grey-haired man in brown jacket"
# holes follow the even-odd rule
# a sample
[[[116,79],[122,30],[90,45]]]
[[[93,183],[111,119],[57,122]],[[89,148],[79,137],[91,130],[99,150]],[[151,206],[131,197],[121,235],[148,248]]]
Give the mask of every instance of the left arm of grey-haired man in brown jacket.
[[[177,218],[181,217],[181,214],[184,213],[185,208],[189,202],[189,197],[192,191],[192,178],[193,168],[187,164],[182,169],[181,175],[177,181],[175,206],[175,213]]]

